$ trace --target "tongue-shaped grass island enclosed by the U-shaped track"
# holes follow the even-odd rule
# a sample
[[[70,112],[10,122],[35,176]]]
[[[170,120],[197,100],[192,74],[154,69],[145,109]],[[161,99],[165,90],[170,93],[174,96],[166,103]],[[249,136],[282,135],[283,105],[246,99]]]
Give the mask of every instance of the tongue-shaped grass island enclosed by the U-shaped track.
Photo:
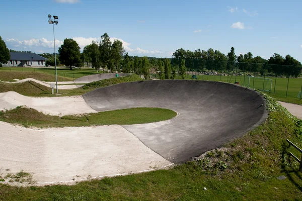
[[[172,119],[176,112],[160,108],[132,108],[99,113],[89,113],[81,116],[51,116],[32,108],[17,107],[13,110],[0,112],[0,121],[11,124],[21,124],[24,127],[81,127],[97,125],[129,125]]]

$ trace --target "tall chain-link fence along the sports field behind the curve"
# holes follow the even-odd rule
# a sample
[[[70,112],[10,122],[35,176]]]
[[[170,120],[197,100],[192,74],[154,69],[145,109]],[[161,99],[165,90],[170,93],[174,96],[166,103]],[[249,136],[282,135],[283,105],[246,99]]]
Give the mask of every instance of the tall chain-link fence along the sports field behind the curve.
[[[179,59],[171,61],[178,69],[175,79],[182,79],[180,64]],[[301,66],[187,59],[185,67],[185,79],[236,83],[273,96],[301,99]]]

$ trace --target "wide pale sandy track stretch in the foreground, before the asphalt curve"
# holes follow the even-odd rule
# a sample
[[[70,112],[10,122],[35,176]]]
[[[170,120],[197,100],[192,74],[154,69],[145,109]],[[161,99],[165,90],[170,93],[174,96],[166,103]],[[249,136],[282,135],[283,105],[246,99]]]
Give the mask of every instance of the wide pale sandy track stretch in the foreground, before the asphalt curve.
[[[170,165],[118,125],[26,129],[0,122],[0,167],[37,185],[68,183]]]

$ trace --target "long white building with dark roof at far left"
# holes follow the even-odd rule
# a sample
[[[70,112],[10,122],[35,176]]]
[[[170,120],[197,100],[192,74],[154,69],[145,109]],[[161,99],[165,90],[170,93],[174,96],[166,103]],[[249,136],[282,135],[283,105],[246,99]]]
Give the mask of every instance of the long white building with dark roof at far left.
[[[46,58],[35,54],[25,52],[10,52],[11,59],[8,63],[3,63],[3,66],[29,66],[43,67],[45,66]]]

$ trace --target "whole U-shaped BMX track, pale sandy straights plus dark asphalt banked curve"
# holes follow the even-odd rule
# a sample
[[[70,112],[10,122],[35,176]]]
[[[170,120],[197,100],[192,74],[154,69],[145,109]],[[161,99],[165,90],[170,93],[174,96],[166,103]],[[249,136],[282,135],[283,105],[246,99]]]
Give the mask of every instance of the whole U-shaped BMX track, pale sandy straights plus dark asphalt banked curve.
[[[3,108],[7,109],[29,105],[44,113],[53,110],[52,114],[71,103],[72,114],[83,113],[85,108],[95,112],[157,107],[174,110],[178,116],[149,124],[49,129],[0,122],[0,169],[30,172],[37,185],[148,171],[220,147],[267,117],[259,93],[222,82],[130,82],[99,88],[83,97],[49,98],[47,104],[39,105],[39,100],[46,99],[7,92],[0,94],[0,103],[6,103]],[[48,109],[43,110],[43,105]]]

